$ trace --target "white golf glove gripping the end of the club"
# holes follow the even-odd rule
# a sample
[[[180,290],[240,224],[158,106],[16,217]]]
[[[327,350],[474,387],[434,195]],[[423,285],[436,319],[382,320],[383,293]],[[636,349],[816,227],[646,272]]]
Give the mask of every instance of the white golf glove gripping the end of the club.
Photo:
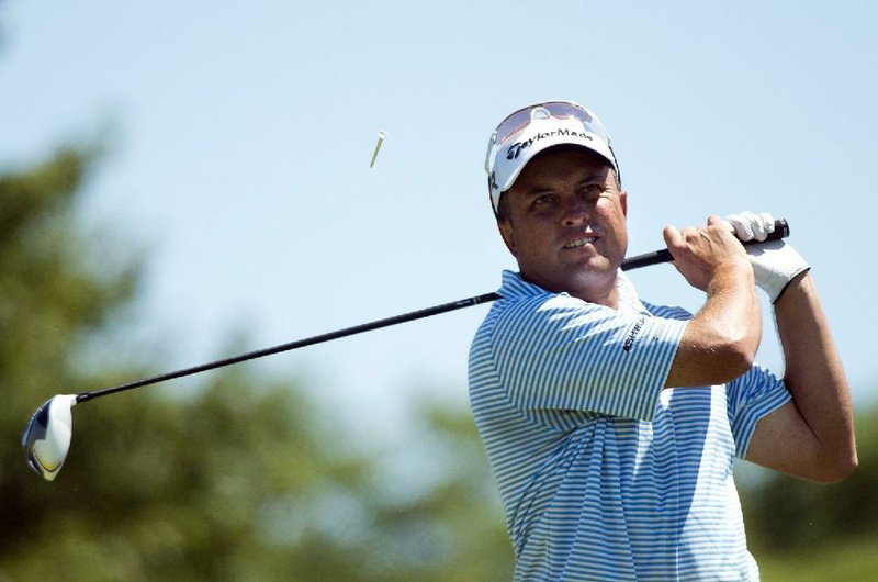
[[[742,212],[727,216],[725,221],[742,242],[765,240],[775,230],[775,220],[768,213]],[[774,303],[789,282],[810,266],[795,248],[784,242],[769,240],[759,245],[746,246],[756,286],[768,294]]]

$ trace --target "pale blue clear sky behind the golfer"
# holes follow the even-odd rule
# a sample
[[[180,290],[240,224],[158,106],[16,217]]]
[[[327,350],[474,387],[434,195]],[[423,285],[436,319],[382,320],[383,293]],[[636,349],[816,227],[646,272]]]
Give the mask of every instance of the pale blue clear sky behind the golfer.
[[[865,0],[5,0],[0,168],[111,137],[80,210],[146,253],[125,325],[164,370],[227,355],[241,332],[257,348],[495,290],[514,264],[488,208],[487,137],[513,109],[572,99],[612,134],[630,254],[710,213],[789,220],[868,401],[877,12]],[[633,278],[645,299],[700,305],[671,266]],[[393,426],[414,394],[465,402],[485,312],[251,366]],[[768,323],[759,357],[780,370],[775,343]]]

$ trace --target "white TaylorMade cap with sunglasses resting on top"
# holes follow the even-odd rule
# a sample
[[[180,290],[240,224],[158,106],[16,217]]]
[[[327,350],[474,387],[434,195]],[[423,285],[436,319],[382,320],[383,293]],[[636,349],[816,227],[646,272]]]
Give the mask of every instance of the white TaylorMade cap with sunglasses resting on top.
[[[522,114],[526,115],[524,122],[514,117]],[[513,120],[511,125],[519,122],[518,126],[510,126],[509,120]],[[513,187],[527,163],[540,152],[559,145],[582,146],[599,154],[619,177],[609,134],[594,113],[570,101],[530,105],[500,123],[488,145],[485,169],[495,213],[500,194]]]

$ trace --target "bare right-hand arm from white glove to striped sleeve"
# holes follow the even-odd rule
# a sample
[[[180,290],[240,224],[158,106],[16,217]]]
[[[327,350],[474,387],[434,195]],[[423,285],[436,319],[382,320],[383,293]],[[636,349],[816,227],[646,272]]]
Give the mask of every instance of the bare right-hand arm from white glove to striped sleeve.
[[[797,276],[775,302],[792,400],[756,425],[746,458],[821,482],[857,467],[847,379],[811,276]]]

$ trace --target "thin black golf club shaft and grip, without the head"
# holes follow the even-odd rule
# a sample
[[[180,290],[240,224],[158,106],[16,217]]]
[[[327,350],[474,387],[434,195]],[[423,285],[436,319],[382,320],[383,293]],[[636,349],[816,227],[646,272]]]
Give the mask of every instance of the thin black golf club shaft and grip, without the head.
[[[787,224],[787,221],[781,219],[775,221],[775,231],[768,235],[768,238],[766,240],[776,240],[779,238],[785,238],[787,236],[789,236],[789,225]],[[753,244],[758,244],[758,242],[750,240],[744,244],[753,245]],[[648,267],[651,265],[657,265],[661,262],[669,262],[672,260],[673,257],[671,256],[671,253],[666,248],[664,248],[662,250],[655,250],[653,253],[646,253],[644,255],[638,255],[635,257],[627,258],[624,259],[624,261],[622,261],[621,269],[623,271],[627,271],[631,269],[639,269],[641,267]],[[431,317],[432,315],[439,315],[440,313],[448,313],[450,311],[457,311],[463,307],[471,307],[473,305],[480,305],[482,303],[489,303],[492,301],[496,301],[499,298],[500,295],[498,293],[492,292],[482,295],[461,299],[458,301],[452,301],[451,303],[443,303],[441,305],[435,305],[432,307],[403,313],[401,315],[394,315],[393,317],[386,317],[384,320],[378,320],[370,323],[354,325],[353,327],[346,327],[345,329],[338,329],[336,332],[329,332],[322,335],[306,337],[304,339],[297,339],[295,342],[290,342],[288,344],[281,344],[269,348],[258,349],[255,351],[249,351],[247,354],[241,354],[239,356],[233,356],[229,358],[224,358],[207,363],[202,363],[200,366],[193,366],[191,368],[183,368],[182,370],[167,372],[159,376],[154,376],[151,378],[145,378],[143,380],[137,380],[134,382],[130,382],[113,388],[97,390],[93,392],[83,392],[81,394],[77,394],[76,401],[77,403],[87,402],[89,400],[97,399],[99,396],[106,396],[109,394],[114,394],[116,392],[134,390],[135,388],[156,384],[168,380],[175,380],[177,378],[183,378],[185,376],[192,376],[195,373],[206,372],[209,370],[224,368],[226,366],[232,366],[234,363],[240,363],[247,360],[254,360],[257,358],[263,358],[266,356],[272,356],[274,354],[280,354],[282,351],[290,351],[306,346],[313,346],[315,344],[323,344],[324,342],[330,342],[333,339],[338,339],[341,337],[362,334],[363,332],[371,332],[373,329],[380,329],[381,327],[390,327],[392,325],[398,325],[401,323],[421,320],[425,317]]]

